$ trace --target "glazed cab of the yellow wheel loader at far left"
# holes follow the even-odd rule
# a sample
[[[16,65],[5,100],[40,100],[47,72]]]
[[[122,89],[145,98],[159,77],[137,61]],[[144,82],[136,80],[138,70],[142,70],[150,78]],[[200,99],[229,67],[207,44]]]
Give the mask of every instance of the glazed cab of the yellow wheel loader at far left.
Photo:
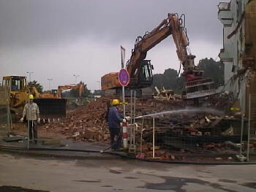
[[[26,91],[26,77],[23,76],[5,76],[2,86],[12,91]]]

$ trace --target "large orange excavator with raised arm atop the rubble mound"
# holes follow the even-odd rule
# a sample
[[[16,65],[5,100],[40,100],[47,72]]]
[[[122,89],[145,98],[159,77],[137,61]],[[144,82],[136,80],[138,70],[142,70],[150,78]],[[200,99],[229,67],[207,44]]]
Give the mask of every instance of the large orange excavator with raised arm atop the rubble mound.
[[[153,66],[150,60],[145,60],[146,53],[170,35],[173,36],[178,59],[184,70],[183,75],[186,79],[184,98],[198,99],[215,94],[214,82],[210,78],[204,78],[203,70],[194,64],[195,55],[192,55],[189,50],[185,15],[178,17],[178,14],[170,13],[167,15],[167,19],[162,20],[157,28],[136,39],[135,48],[132,50],[132,55],[126,65],[130,77],[127,89],[140,90],[139,93],[143,95],[143,89],[152,84]],[[108,94],[108,92],[113,93],[113,91],[116,94],[121,93],[118,72],[105,74],[101,81],[103,93]]]

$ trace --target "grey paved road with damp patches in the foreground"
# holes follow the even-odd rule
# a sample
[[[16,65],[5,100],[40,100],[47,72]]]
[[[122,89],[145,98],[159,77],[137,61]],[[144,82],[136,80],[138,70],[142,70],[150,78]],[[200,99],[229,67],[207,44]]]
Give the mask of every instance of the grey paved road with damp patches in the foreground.
[[[0,191],[19,191],[20,188],[51,192],[256,190],[255,165],[64,160],[0,153],[0,170]]]

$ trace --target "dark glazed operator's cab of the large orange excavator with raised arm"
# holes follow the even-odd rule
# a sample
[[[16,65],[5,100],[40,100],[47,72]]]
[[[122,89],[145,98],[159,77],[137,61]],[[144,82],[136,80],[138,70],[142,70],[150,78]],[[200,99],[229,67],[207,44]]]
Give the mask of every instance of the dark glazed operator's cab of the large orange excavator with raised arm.
[[[143,60],[140,66],[140,73],[138,78],[138,84],[140,87],[148,87],[153,82],[152,69],[154,69],[153,65],[151,65],[150,60]]]

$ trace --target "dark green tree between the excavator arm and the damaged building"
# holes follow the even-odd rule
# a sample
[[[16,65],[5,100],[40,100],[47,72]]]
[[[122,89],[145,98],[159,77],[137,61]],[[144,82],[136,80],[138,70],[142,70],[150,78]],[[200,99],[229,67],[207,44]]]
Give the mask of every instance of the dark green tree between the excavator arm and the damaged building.
[[[198,66],[205,72],[205,77],[210,77],[218,86],[224,84],[224,65],[214,61],[213,58],[203,58]]]

